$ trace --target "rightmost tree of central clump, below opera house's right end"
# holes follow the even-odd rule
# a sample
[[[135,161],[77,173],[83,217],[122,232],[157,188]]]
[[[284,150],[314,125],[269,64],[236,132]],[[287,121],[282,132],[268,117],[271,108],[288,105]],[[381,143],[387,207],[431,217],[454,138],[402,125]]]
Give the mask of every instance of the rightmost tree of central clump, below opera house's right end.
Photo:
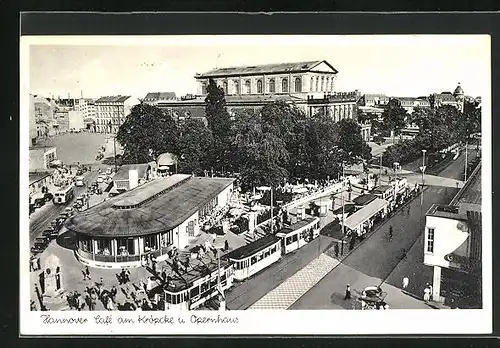
[[[369,160],[371,149],[361,136],[360,125],[351,119],[343,119],[337,122],[338,146],[343,150],[343,160],[348,164],[359,162],[359,159]],[[350,155],[349,155],[350,153]]]

